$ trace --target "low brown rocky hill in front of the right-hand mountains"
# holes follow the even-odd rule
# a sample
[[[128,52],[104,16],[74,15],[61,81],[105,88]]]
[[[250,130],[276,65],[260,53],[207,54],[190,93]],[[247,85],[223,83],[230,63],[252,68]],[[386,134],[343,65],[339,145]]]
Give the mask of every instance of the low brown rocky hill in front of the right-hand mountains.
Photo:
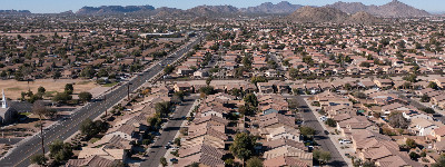
[[[382,22],[380,19],[367,13],[357,12],[355,14],[348,14],[339,9],[327,8],[327,7],[303,7],[289,14],[289,20],[294,22],[336,22],[336,23],[377,23]]]

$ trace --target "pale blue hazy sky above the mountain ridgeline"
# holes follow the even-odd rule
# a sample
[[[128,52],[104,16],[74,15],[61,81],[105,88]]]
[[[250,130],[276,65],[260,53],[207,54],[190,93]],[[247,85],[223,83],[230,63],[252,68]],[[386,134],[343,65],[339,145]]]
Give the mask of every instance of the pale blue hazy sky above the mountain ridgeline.
[[[77,11],[89,6],[142,6],[172,7],[189,9],[200,4],[231,4],[238,8],[258,6],[263,2],[280,2],[283,0],[0,0],[0,9],[30,10],[36,13]],[[338,0],[288,0],[293,4],[324,6]],[[365,4],[385,4],[392,0],[343,0],[345,2],[363,2]],[[399,0],[409,6],[436,12],[444,11],[445,0]]]

